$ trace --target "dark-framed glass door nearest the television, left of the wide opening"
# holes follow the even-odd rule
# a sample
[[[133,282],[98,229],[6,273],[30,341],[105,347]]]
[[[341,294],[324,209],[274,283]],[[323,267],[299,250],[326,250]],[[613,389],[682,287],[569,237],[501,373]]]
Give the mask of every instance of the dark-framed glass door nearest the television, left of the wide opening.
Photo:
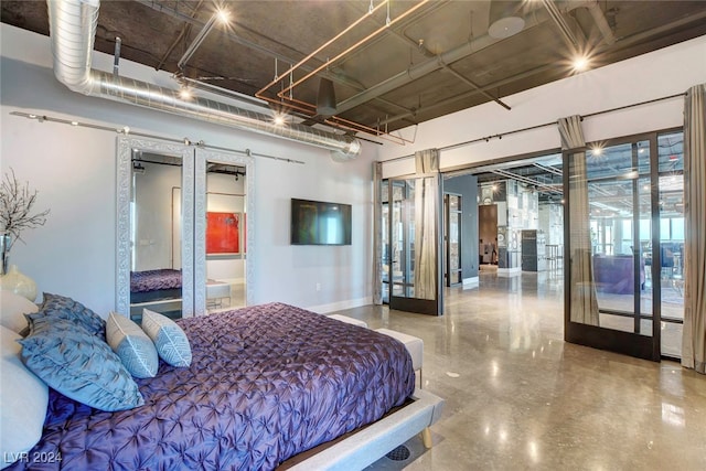
[[[387,181],[383,278],[392,309],[442,313],[439,202],[438,175]]]

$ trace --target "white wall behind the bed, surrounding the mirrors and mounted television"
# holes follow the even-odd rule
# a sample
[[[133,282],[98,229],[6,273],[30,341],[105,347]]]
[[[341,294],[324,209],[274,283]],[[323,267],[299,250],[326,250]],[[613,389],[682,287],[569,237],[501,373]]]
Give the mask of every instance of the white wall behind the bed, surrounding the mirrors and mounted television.
[[[303,161],[256,158],[250,196],[257,245],[248,254],[255,267],[248,302],[277,300],[325,311],[371,301],[372,146],[364,142],[355,161],[334,162],[329,151],[311,146],[81,96],[54,78],[49,38],[0,28],[0,168],[14,169],[40,191],[38,208],[52,211],[46,225],[25,232],[26,245],[19,243],[11,253],[40,292],[72,296],[103,315],[115,308],[116,133],[10,116],[15,110]],[[95,53],[94,68],[110,71],[111,61]],[[160,85],[171,82],[168,74],[127,61],[120,72]],[[353,245],[289,245],[291,197],[352,204]]]

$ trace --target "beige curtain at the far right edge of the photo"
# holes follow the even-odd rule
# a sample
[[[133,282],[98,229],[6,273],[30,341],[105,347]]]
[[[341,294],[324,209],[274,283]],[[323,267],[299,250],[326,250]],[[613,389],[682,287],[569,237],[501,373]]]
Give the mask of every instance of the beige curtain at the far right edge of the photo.
[[[684,101],[684,333],[682,365],[706,374],[706,84]]]

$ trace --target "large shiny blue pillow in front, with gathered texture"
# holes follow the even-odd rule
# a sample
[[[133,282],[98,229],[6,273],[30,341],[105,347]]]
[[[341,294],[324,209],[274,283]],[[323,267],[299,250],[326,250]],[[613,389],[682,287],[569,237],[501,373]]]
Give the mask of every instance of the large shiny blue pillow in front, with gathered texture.
[[[24,365],[66,397],[107,411],[145,404],[110,346],[72,321],[42,317],[18,342]]]

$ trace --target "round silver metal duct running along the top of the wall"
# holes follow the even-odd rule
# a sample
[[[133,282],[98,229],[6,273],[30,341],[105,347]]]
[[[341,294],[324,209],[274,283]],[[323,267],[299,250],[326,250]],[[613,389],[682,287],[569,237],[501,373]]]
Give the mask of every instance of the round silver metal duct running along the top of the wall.
[[[179,116],[254,131],[329,149],[336,161],[361,153],[354,137],[308,126],[275,125],[268,115],[206,99],[182,99],[179,92],[90,68],[99,0],[47,0],[54,75],[84,95],[137,105]]]

